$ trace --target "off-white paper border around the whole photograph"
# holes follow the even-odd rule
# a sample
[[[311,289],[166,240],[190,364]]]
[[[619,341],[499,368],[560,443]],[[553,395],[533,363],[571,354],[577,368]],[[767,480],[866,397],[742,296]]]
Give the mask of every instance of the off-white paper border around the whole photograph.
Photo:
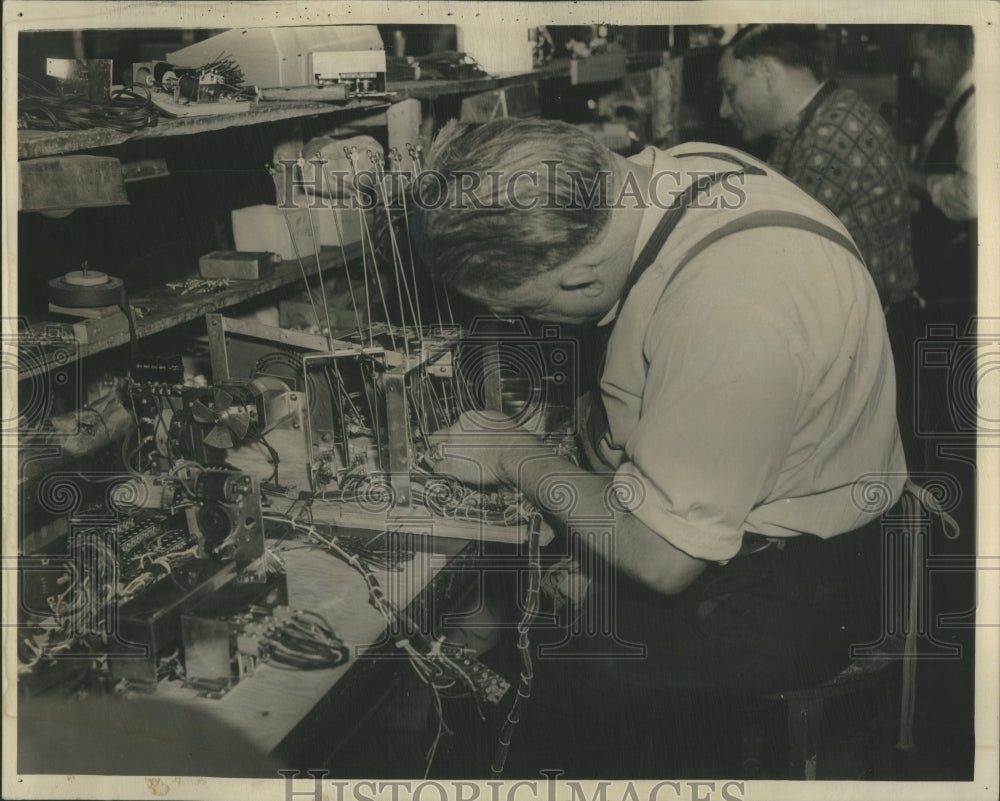
[[[976,86],[978,115],[979,206],[980,217],[995,217],[1000,205],[1000,170],[998,170],[998,133],[1000,132],[1000,5],[989,0],[848,0],[847,2],[780,2],[778,0],[730,0],[729,2],[580,2],[580,3],[443,3],[443,2],[63,2],[35,0],[3,4],[3,175],[5,203],[2,214],[3,235],[3,324],[6,337],[16,317],[17,298],[17,36],[25,30],[89,28],[230,28],[271,25],[308,24],[457,24],[463,21],[497,25],[543,24],[685,25],[731,24],[749,22],[803,22],[830,24],[917,23],[968,24],[976,32]],[[1000,317],[1000,251],[998,226],[980,226],[979,298],[981,317]],[[1000,338],[1000,330],[991,331]],[[5,344],[5,348],[8,345]],[[4,363],[9,353],[4,353]],[[16,381],[4,376],[3,408],[5,417],[16,405]],[[1000,382],[981,388],[980,403],[995,420],[1000,410],[997,389]],[[14,445],[14,447],[8,447]],[[996,487],[1000,485],[998,446],[982,442],[978,455],[979,492],[977,529],[979,555],[1000,559],[1000,504]],[[17,448],[4,443],[3,457],[3,553],[16,553],[17,534]],[[4,578],[9,578],[10,572]],[[746,799],[996,799],[998,797],[998,693],[997,665],[1000,664],[1000,582],[992,571],[981,575],[978,610],[981,623],[976,631],[976,767],[971,782],[746,782]],[[14,581],[3,582],[4,619],[13,617],[17,587]],[[8,615],[8,612],[11,613]],[[91,776],[17,776],[16,768],[16,643],[15,630],[3,630],[3,797],[4,798],[108,798],[108,799],[268,799],[284,801],[285,788],[280,779],[236,780],[189,777],[91,777]],[[646,799],[654,782],[636,782],[639,799]],[[595,782],[582,782],[588,798]],[[297,793],[309,791],[311,781],[297,783]],[[507,788],[510,789],[509,787]],[[516,788],[515,788],[516,789]],[[609,790],[608,799],[617,801],[620,790]],[[367,792],[367,791],[366,791]],[[483,801],[523,801],[532,798],[525,788],[514,798],[506,790],[499,797],[483,787]],[[296,799],[311,796],[296,795]],[[340,801],[333,792],[330,801]],[[388,793],[385,796],[388,798]],[[429,791],[425,798],[435,798]],[[672,799],[666,791],[660,799]],[[689,797],[696,797],[691,795]],[[539,799],[545,796],[539,796]],[[554,801],[567,801],[565,787]],[[344,799],[354,801],[349,793]],[[547,799],[546,799],[547,801]]]

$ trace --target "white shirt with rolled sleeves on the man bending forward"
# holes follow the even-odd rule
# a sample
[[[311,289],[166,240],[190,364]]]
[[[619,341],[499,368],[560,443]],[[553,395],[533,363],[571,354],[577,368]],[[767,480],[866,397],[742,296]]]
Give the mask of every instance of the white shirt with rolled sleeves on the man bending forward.
[[[672,158],[691,147],[704,146],[633,160],[654,173],[719,168]],[[643,487],[632,513],[699,559],[732,558],[744,531],[851,531],[877,514],[863,499],[884,492],[891,502],[906,478],[885,318],[854,256],[805,231],[750,230],[706,249],[664,291],[689,247],[761,208],[846,233],[787,179],[754,181],[742,208],[689,211],[609,315],[618,316],[601,378],[610,430],[598,453]],[[637,252],[661,215],[646,212]]]

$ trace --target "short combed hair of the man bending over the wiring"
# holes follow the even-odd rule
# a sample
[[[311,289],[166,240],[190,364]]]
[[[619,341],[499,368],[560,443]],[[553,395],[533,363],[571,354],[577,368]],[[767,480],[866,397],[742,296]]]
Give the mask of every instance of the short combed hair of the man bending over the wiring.
[[[494,120],[476,127],[452,121],[435,138],[426,168],[438,185],[432,194],[443,191],[445,198],[420,205],[414,239],[433,276],[452,286],[518,286],[580,253],[611,214],[606,202],[581,203],[578,183],[610,177],[610,151],[564,122]],[[522,170],[540,180],[518,183],[516,197],[505,180],[492,183],[490,173],[510,180]],[[461,199],[460,182],[470,175],[480,182],[477,195],[486,208]],[[535,208],[525,210],[529,204]]]

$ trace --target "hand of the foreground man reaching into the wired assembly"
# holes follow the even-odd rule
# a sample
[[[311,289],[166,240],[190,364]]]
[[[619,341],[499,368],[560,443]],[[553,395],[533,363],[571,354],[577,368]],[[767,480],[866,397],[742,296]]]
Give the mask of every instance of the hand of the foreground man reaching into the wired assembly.
[[[513,487],[522,459],[552,455],[540,437],[502,412],[464,412],[458,422],[430,440],[425,461],[435,473],[477,486]]]

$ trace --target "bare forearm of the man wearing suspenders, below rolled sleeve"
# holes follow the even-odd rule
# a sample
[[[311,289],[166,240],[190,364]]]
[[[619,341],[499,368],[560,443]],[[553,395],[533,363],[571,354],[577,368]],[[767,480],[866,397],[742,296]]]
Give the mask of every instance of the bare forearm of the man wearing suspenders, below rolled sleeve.
[[[567,524],[574,536],[585,537],[607,562],[657,592],[680,592],[705,568],[705,562],[678,550],[634,515],[616,510],[613,476],[590,473],[555,455],[522,459],[511,472],[517,488],[536,506]],[[575,502],[557,503],[557,492],[575,493]],[[587,536],[608,528],[611,537]]]

